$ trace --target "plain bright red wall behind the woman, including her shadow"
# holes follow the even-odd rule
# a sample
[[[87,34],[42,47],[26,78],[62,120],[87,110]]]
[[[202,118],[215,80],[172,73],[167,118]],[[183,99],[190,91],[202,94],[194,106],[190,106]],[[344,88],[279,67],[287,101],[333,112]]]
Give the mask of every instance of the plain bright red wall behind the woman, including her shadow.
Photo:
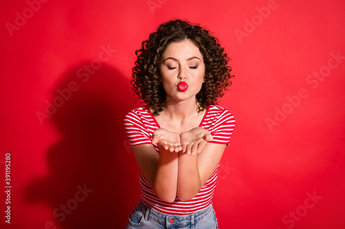
[[[135,50],[180,18],[219,38],[235,74],[219,103],[237,120],[214,197],[219,227],[345,228],[345,59],[333,57],[345,56],[344,10],[342,0],[2,3],[0,183],[10,152],[12,214],[8,225],[1,191],[1,225],[125,227],[140,199],[122,127],[139,106]],[[97,62],[101,46],[116,52]],[[60,107],[40,122],[47,101]],[[61,204],[73,210],[59,222]]]

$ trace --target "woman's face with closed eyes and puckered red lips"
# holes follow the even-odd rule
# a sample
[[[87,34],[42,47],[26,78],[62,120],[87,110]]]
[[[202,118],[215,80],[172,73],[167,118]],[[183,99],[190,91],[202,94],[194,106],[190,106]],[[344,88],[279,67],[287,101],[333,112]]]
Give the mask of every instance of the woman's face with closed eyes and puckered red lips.
[[[170,43],[161,56],[160,73],[167,101],[195,101],[205,82],[205,64],[199,48],[188,39]]]

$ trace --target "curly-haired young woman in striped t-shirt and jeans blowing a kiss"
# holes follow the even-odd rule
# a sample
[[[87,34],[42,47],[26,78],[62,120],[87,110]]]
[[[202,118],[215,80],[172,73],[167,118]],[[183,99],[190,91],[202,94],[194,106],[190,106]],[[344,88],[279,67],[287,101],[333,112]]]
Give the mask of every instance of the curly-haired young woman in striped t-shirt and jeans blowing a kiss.
[[[147,105],[124,123],[141,186],[127,228],[218,228],[212,197],[235,126],[217,106],[231,85],[228,57],[207,30],[180,20],[160,25],[136,54],[132,85]]]

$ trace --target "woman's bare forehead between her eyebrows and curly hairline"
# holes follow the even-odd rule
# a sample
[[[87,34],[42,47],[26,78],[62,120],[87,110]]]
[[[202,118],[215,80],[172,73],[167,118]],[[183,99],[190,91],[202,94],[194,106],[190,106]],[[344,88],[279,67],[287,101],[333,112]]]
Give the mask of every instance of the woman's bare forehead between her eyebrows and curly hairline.
[[[199,47],[186,39],[184,41],[172,42],[166,47],[166,51],[163,53],[162,58],[173,57],[176,59],[188,59],[191,56],[197,56],[202,60],[202,54],[199,51]]]

